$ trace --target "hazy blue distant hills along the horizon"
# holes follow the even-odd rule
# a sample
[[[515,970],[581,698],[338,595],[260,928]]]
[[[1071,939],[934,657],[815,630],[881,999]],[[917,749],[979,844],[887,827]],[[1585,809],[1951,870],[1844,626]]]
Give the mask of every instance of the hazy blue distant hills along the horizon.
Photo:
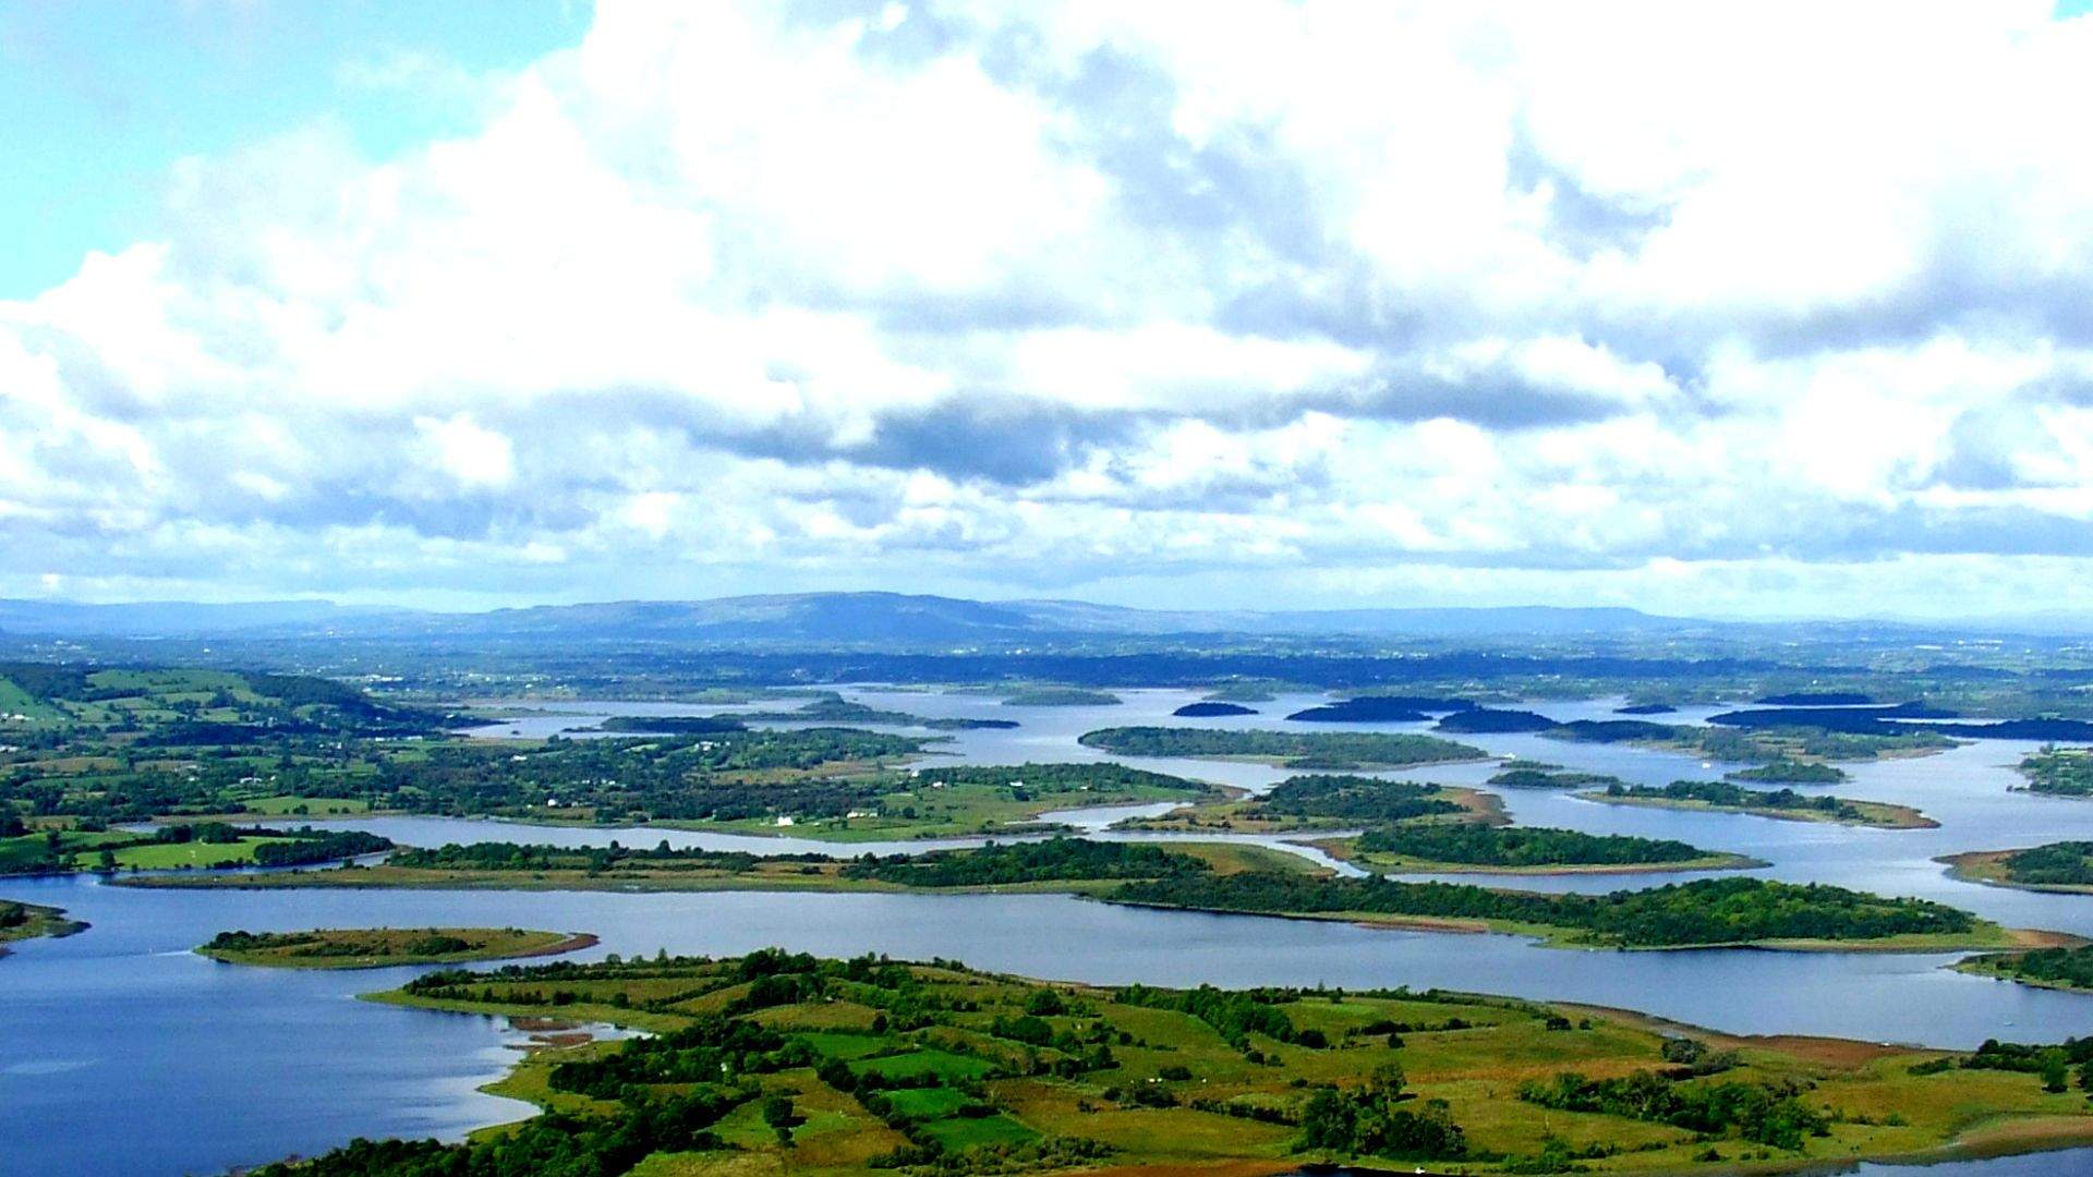
[[[0,635],[19,639],[450,639],[638,641],[672,645],[994,647],[1067,641],[1239,635],[1245,639],[1674,639],[1815,635],[1903,639],[1923,635],[2078,635],[2078,618],[2043,626],[1900,622],[1714,622],[1624,607],[1478,609],[1130,609],[1084,601],[967,601],[904,593],[781,593],[710,601],[607,601],[479,614],[345,607],[331,601],[205,605],[155,601],[84,605],[0,601]]]

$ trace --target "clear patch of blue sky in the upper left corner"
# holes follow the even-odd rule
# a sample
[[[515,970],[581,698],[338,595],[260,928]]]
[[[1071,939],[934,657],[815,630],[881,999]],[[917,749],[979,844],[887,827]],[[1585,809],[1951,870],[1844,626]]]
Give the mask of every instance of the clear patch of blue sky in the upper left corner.
[[[69,279],[88,249],[161,230],[167,170],[337,124],[383,159],[469,130],[477,111],[381,84],[425,59],[517,69],[576,44],[584,0],[15,0],[0,4],[0,297]],[[31,228],[33,226],[33,228]]]

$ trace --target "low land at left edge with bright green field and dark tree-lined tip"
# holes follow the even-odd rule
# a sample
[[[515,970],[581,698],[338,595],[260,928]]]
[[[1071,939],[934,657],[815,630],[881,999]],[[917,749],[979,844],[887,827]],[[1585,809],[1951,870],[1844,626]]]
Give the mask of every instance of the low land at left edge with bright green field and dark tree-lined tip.
[[[391,840],[360,829],[270,829],[222,821],[172,823],[147,831],[44,829],[0,838],[0,873],[188,871],[213,867],[308,867],[389,850]]]

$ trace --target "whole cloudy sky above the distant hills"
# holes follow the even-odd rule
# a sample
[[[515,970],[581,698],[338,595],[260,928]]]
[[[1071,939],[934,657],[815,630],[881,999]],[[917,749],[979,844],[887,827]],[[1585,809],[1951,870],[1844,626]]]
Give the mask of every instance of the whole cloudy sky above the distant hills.
[[[0,595],[2083,609],[2083,10],[0,0]]]

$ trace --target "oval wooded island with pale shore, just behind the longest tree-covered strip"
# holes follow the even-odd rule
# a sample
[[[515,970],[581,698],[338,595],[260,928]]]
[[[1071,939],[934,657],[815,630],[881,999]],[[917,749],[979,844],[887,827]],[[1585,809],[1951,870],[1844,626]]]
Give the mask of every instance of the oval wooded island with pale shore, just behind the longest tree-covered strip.
[[[1316,842],[1335,859],[1383,873],[1647,873],[1735,871],[1758,859],[1670,838],[1580,834],[1532,825],[1392,825]]]

